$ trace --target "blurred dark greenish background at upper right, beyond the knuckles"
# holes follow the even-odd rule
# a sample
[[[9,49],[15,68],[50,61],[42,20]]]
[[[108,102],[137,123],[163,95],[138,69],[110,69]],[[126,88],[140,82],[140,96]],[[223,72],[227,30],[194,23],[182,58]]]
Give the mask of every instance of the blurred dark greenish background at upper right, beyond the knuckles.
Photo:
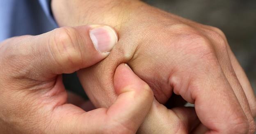
[[[256,92],[256,0],[144,0],[170,13],[221,29]]]

